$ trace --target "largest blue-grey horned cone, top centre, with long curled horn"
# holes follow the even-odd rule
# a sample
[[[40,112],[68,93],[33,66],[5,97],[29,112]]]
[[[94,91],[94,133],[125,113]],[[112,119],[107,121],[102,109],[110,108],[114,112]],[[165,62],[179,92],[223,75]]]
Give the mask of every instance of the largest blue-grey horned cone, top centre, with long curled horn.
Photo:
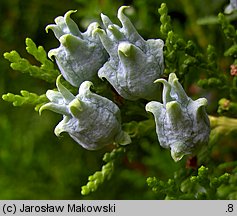
[[[145,41],[136,31],[123,11],[118,10],[122,27],[113,24],[101,14],[105,30],[97,29],[103,46],[110,58],[99,69],[98,76],[106,78],[125,99],[155,99],[158,86],[154,81],[163,74],[163,46],[160,39]]]

